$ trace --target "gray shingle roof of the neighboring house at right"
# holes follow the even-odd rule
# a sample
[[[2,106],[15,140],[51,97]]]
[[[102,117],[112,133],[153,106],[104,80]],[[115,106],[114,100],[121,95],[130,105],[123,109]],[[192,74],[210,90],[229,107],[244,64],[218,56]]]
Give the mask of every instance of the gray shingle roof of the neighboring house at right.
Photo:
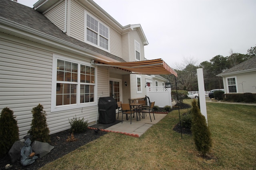
[[[252,57],[246,61],[244,61],[243,63],[240,63],[220,74],[218,74],[217,76],[221,76],[223,74],[231,74],[234,72],[246,72],[249,70],[256,70],[256,57]]]

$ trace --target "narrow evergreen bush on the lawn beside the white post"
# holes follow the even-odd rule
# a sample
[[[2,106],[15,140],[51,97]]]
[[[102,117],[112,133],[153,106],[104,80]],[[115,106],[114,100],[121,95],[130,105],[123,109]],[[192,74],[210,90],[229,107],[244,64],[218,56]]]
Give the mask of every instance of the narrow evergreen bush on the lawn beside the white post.
[[[204,115],[201,114],[200,109],[196,105],[196,100],[192,102],[192,124],[191,131],[196,145],[196,149],[206,155],[212,147],[211,133],[207,126],[206,119]]]

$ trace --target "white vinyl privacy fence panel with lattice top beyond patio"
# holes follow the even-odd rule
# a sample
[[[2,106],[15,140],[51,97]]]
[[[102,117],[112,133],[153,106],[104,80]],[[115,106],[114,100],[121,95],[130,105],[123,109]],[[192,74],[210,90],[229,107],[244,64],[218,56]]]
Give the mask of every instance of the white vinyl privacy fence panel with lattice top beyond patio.
[[[150,86],[146,88],[146,95],[150,102],[155,102],[155,106],[164,107],[166,105],[172,107],[171,88],[164,86]]]

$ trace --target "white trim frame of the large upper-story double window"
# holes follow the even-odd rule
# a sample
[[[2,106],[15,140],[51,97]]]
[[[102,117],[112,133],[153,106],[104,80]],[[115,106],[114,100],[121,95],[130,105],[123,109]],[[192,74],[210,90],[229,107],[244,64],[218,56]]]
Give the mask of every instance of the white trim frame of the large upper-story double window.
[[[94,44],[94,43],[92,43],[90,41],[87,41],[87,14],[90,17],[92,17],[94,20],[98,21],[98,29],[99,29],[99,24],[100,23],[108,28],[108,49],[100,47],[100,33],[99,33],[99,31],[98,31],[98,36],[97,36],[97,38],[98,38],[97,39],[97,44],[98,45],[96,45],[96,44]],[[84,11],[84,42],[88,43],[90,45],[93,45],[94,47],[98,47],[98,48],[100,48],[100,49],[102,49],[104,51],[110,52],[110,28],[107,25],[105,25],[104,23],[102,23],[100,20],[96,19],[96,17],[94,17],[93,15],[89,14],[87,11]]]

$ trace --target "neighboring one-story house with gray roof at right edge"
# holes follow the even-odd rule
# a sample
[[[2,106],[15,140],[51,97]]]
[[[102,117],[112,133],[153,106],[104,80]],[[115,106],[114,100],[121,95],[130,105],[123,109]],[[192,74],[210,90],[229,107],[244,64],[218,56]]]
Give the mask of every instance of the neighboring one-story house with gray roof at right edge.
[[[222,76],[225,93],[256,93],[256,57],[217,76]]]

